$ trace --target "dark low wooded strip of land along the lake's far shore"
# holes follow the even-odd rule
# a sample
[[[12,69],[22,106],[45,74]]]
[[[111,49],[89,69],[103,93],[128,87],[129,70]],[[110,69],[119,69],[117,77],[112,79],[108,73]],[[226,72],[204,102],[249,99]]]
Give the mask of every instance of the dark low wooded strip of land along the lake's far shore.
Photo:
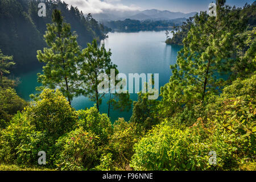
[[[102,22],[106,27],[112,28],[112,30],[118,31],[161,31],[171,30],[174,26],[180,26],[185,18],[173,19],[173,20],[117,20]]]

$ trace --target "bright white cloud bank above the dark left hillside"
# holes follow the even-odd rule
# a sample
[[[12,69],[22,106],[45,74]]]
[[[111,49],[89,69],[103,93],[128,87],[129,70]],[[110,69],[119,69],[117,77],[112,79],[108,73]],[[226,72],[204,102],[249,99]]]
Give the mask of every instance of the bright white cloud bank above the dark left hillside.
[[[64,0],[69,6],[77,6],[83,13],[103,13],[104,10],[135,11],[140,8],[134,5],[126,6],[120,0]]]

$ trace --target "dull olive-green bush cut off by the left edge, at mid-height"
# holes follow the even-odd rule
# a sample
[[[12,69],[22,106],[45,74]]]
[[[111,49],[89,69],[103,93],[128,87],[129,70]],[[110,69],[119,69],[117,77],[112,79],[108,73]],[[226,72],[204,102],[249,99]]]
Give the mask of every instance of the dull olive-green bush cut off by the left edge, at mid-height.
[[[9,125],[9,122],[17,111],[24,109],[27,102],[17,96],[12,88],[2,88],[0,86],[0,129]]]

